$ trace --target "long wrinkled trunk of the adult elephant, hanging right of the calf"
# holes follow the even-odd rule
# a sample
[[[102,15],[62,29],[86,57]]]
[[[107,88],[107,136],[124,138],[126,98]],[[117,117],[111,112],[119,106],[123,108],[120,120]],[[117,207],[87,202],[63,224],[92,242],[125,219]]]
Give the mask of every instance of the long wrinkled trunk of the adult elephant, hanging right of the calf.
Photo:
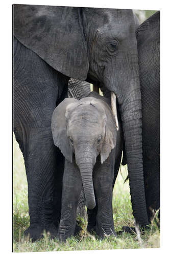
[[[133,215],[141,226],[148,224],[147,208],[145,204],[143,163],[142,163],[142,122],[141,122],[141,94],[139,79],[132,79],[135,87],[129,91],[120,112],[123,122],[125,148],[128,162],[130,194]]]

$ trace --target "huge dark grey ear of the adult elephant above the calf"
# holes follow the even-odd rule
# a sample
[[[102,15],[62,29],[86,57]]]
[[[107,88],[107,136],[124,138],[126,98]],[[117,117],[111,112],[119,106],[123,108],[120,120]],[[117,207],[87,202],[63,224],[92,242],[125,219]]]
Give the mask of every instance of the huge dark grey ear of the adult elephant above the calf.
[[[13,5],[14,36],[62,74],[85,80],[87,46],[77,7]]]

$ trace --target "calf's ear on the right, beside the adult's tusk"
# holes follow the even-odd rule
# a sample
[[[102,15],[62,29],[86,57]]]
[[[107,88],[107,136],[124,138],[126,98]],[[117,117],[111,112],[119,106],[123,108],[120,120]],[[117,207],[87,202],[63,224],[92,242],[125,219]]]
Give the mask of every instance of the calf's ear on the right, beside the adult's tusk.
[[[101,150],[101,163],[108,158],[111,150],[116,146],[117,137],[116,121],[113,113],[106,102],[103,102],[103,104],[105,105],[106,114],[106,134]]]

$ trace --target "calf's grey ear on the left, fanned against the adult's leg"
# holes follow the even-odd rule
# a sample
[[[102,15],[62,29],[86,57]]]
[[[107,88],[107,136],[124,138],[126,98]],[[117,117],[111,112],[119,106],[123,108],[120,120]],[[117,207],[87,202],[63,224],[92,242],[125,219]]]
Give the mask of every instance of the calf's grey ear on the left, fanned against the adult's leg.
[[[65,98],[54,110],[52,115],[52,134],[54,144],[58,146],[64,157],[72,163],[72,147],[66,134],[66,112],[74,109],[79,101],[75,98]]]

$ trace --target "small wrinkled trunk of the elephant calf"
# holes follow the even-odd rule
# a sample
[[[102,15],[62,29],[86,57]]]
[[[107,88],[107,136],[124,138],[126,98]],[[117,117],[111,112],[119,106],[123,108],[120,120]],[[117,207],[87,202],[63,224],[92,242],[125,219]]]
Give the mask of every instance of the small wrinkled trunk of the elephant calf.
[[[76,157],[76,163],[79,166],[80,174],[82,177],[86,206],[88,209],[93,209],[95,207],[95,197],[92,180],[94,160],[89,153],[88,155],[85,152],[83,154],[84,156]]]

